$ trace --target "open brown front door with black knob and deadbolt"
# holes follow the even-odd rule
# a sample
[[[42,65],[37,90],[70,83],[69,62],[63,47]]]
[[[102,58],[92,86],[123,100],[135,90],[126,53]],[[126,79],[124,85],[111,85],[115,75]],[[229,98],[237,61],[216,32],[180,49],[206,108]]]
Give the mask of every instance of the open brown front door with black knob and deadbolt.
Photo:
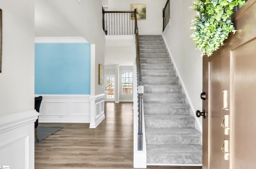
[[[203,58],[203,169],[256,166],[256,0],[233,20],[238,32]]]

